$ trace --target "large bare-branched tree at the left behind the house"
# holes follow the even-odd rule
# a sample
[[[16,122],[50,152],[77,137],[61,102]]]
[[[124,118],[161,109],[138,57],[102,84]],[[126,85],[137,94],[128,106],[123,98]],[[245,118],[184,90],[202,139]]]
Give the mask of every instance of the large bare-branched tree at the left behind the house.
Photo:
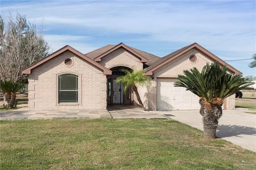
[[[23,79],[21,71],[48,55],[49,49],[42,29],[37,31],[25,15],[0,15],[0,80]]]

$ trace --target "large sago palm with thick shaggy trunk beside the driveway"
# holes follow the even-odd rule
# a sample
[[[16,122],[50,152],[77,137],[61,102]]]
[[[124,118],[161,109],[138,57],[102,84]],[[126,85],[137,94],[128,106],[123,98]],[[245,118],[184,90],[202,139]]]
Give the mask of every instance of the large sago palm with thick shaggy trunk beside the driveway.
[[[174,86],[185,87],[200,97],[199,113],[203,116],[204,137],[215,138],[224,99],[252,83],[242,75],[229,74],[227,67],[221,68],[219,62],[207,63],[201,73],[195,67],[183,73],[178,75]]]

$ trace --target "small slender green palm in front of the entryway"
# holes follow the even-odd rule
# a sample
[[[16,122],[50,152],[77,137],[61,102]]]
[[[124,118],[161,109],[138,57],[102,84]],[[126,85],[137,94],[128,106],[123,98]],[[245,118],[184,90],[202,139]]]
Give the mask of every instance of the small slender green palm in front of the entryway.
[[[124,86],[124,92],[127,91],[131,87],[131,90],[135,92],[135,95],[139,101],[139,104],[145,109],[138,92],[137,86],[144,86],[150,84],[150,77],[145,75],[145,70],[140,71],[128,71],[125,69],[122,69],[122,71],[125,73],[125,75],[118,77],[116,79],[116,82],[122,82]]]

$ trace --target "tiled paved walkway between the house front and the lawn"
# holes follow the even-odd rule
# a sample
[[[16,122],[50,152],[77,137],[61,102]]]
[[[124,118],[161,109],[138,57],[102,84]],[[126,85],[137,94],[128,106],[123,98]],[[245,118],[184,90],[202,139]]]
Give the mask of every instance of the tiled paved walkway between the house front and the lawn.
[[[136,106],[113,106],[108,110],[52,110],[29,111],[23,107],[13,111],[0,111],[0,120],[40,120],[54,118],[169,118],[158,112],[146,112]]]

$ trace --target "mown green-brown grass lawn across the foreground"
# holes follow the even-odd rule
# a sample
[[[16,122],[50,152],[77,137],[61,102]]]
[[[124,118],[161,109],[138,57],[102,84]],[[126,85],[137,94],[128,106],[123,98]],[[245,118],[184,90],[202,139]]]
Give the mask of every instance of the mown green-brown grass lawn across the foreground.
[[[0,169],[253,169],[256,154],[174,120],[2,121]]]

